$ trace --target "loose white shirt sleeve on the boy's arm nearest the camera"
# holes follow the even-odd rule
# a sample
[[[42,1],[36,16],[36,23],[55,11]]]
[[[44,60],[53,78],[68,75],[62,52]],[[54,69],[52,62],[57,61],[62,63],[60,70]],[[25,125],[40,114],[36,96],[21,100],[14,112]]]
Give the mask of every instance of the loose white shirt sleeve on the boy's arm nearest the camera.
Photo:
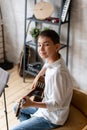
[[[52,81],[53,80],[53,81]],[[66,72],[55,75],[51,80],[52,94],[49,100],[46,100],[48,111],[56,111],[69,107],[72,97],[72,81],[70,75]]]

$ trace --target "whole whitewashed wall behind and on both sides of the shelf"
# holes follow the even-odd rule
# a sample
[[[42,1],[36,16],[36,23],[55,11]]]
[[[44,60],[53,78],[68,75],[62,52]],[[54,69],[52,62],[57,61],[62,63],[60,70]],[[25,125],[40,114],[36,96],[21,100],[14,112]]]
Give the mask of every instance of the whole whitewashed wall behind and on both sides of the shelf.
[[[60,0],[49,0],[54,3],[55,11]],[[55,2],[54,2],[55,1]],[[24,2],[25,0],[2,0],[6,54],[14,63],[18,62],[24,42]],[[28,1],[28,15],[32,15],[33,1]],[[72,0],[69,69],[74,76],[76,87],[87,91],[87,0]],[[57,12],[56,12],[57,14]],[[65,27],[62,38],[64,39]],[[65,50],[62,52],[65,55]]]

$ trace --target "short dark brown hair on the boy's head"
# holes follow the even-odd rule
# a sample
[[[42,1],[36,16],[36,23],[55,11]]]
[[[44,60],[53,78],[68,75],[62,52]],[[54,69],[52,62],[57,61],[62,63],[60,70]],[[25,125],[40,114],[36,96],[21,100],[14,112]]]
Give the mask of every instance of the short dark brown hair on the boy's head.
[[[39,34],[38,38],[39,38],[40,36],[41,36],[41,37],[48,37],[48,38],[50,38],[50,39],[53,41],[54,44],[60,43],[59,35],[58,35],[58,33],[57,33],[56,31],[54,31],[54,30],[51,30],[51,29],[44,30],[44,31],[42,31],[42,32]]]

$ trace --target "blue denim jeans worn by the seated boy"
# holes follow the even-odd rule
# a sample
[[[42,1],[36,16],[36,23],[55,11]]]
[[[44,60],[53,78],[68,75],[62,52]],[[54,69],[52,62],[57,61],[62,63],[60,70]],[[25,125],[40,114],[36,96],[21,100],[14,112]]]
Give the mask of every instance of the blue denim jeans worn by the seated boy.
[[[14,111],[17,105],[14,106]],[[58,127],[58,125],[52,124],[50,121],[44,119],[43,117],[31,117],[38,109],[28,107],[21,109],[19,120],[20,123],[11,130],[51,130]]]

